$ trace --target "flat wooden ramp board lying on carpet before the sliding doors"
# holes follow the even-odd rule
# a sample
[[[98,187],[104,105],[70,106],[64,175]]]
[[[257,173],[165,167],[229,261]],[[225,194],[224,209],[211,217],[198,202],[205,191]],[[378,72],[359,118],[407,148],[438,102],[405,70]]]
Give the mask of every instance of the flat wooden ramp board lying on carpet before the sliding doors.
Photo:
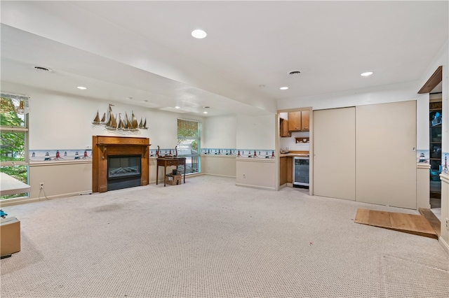
[[[436,232],[423,215],[357,209],[354,222],[438,239]]]

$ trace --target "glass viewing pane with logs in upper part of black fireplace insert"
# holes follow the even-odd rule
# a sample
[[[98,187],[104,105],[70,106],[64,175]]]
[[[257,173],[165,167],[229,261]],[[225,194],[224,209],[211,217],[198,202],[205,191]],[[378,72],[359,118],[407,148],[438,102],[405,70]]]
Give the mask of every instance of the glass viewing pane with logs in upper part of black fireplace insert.
[[[140,176],[140,155],[107,157],[107,178]]]

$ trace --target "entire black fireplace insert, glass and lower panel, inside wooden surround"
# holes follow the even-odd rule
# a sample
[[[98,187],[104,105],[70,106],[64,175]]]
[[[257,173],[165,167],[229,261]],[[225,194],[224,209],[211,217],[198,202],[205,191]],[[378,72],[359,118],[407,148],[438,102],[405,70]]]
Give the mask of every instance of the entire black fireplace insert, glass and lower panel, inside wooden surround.
[[[140,186],[140,155],[111,155],[107,157],[107,190]]]

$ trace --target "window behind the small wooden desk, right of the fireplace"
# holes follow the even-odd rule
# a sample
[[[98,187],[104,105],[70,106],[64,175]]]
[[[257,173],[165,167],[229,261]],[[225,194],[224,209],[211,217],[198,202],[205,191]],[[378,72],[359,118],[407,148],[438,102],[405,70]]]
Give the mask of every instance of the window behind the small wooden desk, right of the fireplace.
[[[177,120],[177,155],[186,157],[185,173],[199,173],[201,169],[200,124],[194,120]]]

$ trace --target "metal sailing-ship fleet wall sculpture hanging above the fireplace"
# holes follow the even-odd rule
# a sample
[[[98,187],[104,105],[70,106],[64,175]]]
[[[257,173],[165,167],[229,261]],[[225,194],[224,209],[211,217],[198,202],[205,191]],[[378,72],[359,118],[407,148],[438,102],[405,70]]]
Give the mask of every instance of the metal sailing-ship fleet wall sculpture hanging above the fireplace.
[[[100,112],[97,111],[92,124],[95,126],[104,125],[107,130],[117,133],[135,133],[139,132],[139,129],[148,129],[147,118],[145,118],[145,122],[142,122],[143,118],[140,118],[140,123],[138,123],[138,119],[135,117],[134,112],[131,111],[131,118],[128,118],[128,113],[125,112],[125,117],[122,119],[121,113],[114,116],[112,106],[114,105],[109,104],[106,113],[103,113],[101,119]]]

